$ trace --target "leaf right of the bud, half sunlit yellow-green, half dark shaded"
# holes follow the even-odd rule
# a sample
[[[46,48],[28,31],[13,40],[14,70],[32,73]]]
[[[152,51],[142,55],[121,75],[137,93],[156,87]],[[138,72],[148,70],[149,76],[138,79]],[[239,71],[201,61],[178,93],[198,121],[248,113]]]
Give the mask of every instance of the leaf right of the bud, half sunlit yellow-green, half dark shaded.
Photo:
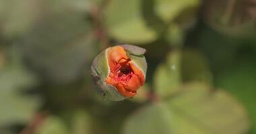
[[[212,84],[212,74],[203,55],[193,50],[174,50],[160,64],[154,75],[154,88],[160,96],[177,92],[182,82],[200,81]]]

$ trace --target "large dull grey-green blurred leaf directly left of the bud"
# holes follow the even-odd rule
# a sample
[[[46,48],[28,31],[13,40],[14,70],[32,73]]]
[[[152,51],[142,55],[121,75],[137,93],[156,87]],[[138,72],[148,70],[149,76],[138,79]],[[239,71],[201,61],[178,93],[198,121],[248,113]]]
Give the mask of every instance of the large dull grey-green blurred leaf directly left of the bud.
[[[88,70],[96,42],[84,15],[71,11],[53,13],[32,27],[19,42],[30,67],[45,80],[68,84]],[[58,36],[56,36],[58,35]]]

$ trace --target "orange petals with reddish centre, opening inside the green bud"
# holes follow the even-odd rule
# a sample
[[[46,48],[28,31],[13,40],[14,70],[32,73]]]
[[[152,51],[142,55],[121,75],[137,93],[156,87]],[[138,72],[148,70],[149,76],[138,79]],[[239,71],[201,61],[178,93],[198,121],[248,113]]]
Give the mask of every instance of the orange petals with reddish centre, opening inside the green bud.
[[[110,74],[106,78],[106,83],[115,86],[123,96],[135,96],[139,87],[145,82],[145,78],[125,50],[121,47],[110,48],[108,64]]]

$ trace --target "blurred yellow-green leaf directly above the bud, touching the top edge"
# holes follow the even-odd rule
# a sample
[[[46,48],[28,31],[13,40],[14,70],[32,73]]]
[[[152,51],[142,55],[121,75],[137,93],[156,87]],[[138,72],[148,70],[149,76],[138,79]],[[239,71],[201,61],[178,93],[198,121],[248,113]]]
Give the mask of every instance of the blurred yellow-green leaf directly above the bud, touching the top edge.
[[[141,0],[109,1],[104,19],[108,34],[119,42],[146,44],[158,36],[143,19]]]

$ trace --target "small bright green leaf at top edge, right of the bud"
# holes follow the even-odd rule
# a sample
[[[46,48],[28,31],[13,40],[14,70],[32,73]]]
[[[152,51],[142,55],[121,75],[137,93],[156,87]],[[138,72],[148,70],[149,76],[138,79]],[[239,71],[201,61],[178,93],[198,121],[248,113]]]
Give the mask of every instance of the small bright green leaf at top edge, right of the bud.
[[[200,0],[154,0],[156,6],[154,11],[163,21],[169,23],[179,17],[186,9],[197,9]],[[191,13],[191,12],[189,12]]]

